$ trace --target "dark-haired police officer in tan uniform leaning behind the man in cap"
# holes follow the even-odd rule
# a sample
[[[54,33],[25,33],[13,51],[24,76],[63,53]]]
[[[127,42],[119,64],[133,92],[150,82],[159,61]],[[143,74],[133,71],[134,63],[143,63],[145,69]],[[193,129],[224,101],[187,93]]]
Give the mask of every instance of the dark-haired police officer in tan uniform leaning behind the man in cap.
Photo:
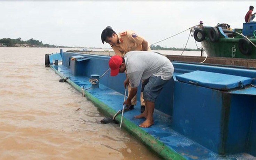
[[[127,30],[120,33],[115,33],[112,27],[107,26],[101,33],[101,41],[109,43],[116,55],[124,56],[127,52],[133,50],[150,51],[150,45],[147,41],[131,30]],[[128,86],[128,95],[131,87]],[[125,107],[125,111],[132,110],[136,105],[136,95],[131,100],[131,105]],[[145,102],[143,99],[143,93],[141,93],[141,113],[145,110]]]

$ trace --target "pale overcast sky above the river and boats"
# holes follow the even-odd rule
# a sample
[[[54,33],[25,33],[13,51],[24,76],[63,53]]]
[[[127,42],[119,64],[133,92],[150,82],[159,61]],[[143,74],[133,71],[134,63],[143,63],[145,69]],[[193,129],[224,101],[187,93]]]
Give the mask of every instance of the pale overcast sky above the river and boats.
[[[106,26],[112,26],[115,32],[133,30],[153,44],[199,24],[199,21],[207,26],[228,23],[232,29],[242,28],[250,5],[256,7],[256,2],[0,1],[0,39],[21,37],[22,40],[33,38],[50,45],[110,48],[109,44],[102,44],[101,33]],[[188,36],[189,31],[186,31],[156,45],[183,48]],[[193,37],[186,48],[197,48]]]

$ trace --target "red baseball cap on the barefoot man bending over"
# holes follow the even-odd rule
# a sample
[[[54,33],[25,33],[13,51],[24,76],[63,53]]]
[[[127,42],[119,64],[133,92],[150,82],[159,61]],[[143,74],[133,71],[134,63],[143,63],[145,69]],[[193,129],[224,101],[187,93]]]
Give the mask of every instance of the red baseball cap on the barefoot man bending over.
[[[118,55],[114,55],[109,59],[110,75],[116,76],[119,73],[119,67],[123,62],[123,58]]]

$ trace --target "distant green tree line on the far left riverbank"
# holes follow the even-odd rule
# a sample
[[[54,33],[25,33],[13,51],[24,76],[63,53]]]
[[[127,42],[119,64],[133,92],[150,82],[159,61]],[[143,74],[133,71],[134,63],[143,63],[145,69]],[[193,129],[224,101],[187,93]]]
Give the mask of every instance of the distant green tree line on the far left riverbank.
[[[52,47],[52,48],[57,47],[55,45],[43,44],[42,41],[35,40],[33,38],[26,41],[21,40],[21,38],[17,38],[17,39],[3,38],[3,39],[0,39],[0,43],[2,43],[3,46],[7,46],[7,47],[17,47],[16,44],[27,44],[29,47]]]

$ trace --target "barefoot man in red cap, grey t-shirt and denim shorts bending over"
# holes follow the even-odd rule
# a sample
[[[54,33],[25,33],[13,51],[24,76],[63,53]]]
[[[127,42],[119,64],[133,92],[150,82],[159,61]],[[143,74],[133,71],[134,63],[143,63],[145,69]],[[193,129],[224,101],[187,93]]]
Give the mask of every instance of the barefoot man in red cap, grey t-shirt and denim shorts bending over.
[[[144,80],[141,91],[145,100],[145,111],[136,115],[135,118],[146,118],[139,127],[147,128],[153,125],[155,100],[163,85],[173,77],[173,64],[165,56],[152,51],[130,51],[124,57],[118,55],[111,57],[109,66],[112,76],[125,71],[127,73],[124,85],[125,88],[129,83],[131,86],[130,94],[123,103],[127,106],[136,95],[139,82]]]

